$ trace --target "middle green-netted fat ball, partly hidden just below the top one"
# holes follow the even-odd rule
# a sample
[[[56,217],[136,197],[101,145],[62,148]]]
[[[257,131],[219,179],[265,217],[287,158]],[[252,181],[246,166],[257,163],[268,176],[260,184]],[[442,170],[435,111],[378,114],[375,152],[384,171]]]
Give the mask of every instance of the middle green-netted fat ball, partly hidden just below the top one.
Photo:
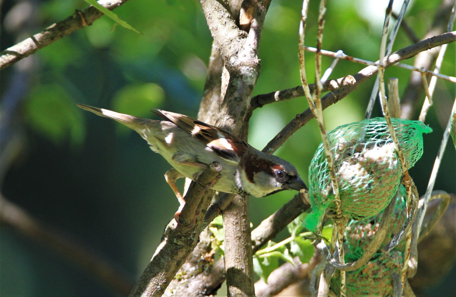
[[[407,194],[405,192],[405,187],[401,185],[399,187],[399,197],[396,199],[393,217],[389,224],[387,235],[380,247],[387,245],[400,231],[402,225],[404,225],[404,222],[407,219],[406,199]],[[368,247],[377,233],[382,216],[383,211],[380,211],[376,216],[361,221],[350,221],[348,223],[345,231],[345,238],[347,240],[349,253],[352,254],[352,257],[360,258],[363,256],[365,248]],[[403,239],[394,247],[394,249],[403,252],[404,247],[405,241]]]

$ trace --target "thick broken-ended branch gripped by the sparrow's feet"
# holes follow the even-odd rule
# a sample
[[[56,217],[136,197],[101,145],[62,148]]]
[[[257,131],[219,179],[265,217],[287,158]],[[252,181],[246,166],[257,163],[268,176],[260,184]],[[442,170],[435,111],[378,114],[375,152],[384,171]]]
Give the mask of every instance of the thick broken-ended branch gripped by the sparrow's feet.
[[[213,191],[207,186],[220,178],[221,169],[218,162],[212,162],[198,177],[198,183],[192,182],[179,220],[172,219],[166,226],[160,245],[130,296],[161,296],[165,292],[177,270],[197,245],[204,212],[213,196]]]

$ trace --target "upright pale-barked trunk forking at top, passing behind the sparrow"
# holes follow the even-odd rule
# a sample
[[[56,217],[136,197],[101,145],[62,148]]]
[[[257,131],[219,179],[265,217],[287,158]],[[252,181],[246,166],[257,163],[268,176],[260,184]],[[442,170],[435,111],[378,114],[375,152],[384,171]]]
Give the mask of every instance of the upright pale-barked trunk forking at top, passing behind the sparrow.
[[[207,24],[226,67],[222,85],[224,99],[220,106],[216,126],[246,138],[248,121],[246,111],[259,76],[259,41],[269,0],[243,2],[243,27],[240,30],[229,12],[215,0],[202,0]],[[249,24],[248,24],[249,23]],[[248,196],[234,197],[231,206],[223,213],[225,230],[225,264],[228,296],[254,295],[252,249]]]

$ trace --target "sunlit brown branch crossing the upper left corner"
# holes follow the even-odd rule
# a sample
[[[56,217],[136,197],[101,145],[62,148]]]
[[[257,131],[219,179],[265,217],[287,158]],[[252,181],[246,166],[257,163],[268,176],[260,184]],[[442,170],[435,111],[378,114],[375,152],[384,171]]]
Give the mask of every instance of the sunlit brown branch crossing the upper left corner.
[[[109,10],[114,10],[114,8],[119,7],[126,1],[128,0],[99,0],[98,3]],[[17,61],[33,54],[46,45],[50,45],[54,41],[70,35],[74,31],[83,28],[85,25],[92,25],[92,23],[102,15],[103,13],[92,5],[83,10],[76,10],[73,15],[67,17],[65,20],[50,25],[41,33],[22,40],[18,44],[0,52],[0,70],[13,65]]]

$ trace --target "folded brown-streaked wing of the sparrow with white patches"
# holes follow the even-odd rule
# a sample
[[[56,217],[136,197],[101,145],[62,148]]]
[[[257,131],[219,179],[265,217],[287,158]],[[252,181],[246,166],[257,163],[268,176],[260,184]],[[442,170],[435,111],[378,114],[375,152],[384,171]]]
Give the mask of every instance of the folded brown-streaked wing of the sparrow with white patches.
[[[171,121],[184,131],[187,131],[227,160],[239,161],[239,157],[248,147],[248,144],[238,136],[189,116],[160,109],[155,109],[152,112],[165,121]]]

